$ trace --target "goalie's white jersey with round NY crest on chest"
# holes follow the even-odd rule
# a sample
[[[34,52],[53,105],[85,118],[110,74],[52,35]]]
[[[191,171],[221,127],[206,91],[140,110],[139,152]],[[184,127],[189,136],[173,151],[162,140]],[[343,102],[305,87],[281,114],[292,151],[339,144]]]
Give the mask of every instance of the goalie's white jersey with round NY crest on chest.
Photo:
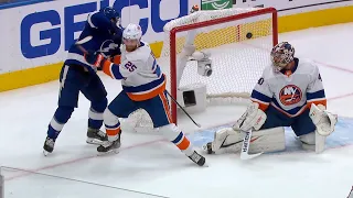
[[[272,66],[264,69],[252,92],[252,100],[265,111],[272,106],[288,117],[297,117],[311,103],[327,105],[322,79],[317,65],[295,58],[292,70],[275,73]]]

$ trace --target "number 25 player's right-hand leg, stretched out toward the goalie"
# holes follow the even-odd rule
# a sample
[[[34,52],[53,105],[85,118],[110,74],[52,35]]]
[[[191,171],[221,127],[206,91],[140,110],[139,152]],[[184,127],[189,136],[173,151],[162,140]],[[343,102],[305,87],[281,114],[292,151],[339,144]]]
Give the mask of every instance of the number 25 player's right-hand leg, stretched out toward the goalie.
[[[205,157],[200,155],[192,146],[185,134],[172,122],[168,99],[164,94],[149,99],[141,107],[149,113],[154,128],[169,141],[175,144],[191,161],[200,166],[205,164]]]

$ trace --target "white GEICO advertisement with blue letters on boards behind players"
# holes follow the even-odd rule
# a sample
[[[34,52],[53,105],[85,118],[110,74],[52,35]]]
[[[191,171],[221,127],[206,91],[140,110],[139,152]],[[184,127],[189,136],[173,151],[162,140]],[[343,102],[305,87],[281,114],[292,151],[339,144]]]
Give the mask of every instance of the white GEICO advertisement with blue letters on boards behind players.
[[[103,7],[113,6],[120,12],[122,26],[140,24],[143,40],[152,43],[163,40],[167,22],[186,15],[193,4],[200,4],[200,0],[61,0],[2,10],[2,32],[12,41],[1,38],[2,51],[10,50],[11,56],[0,55],[4,62],[0,73],[63,61],[87,15]]]

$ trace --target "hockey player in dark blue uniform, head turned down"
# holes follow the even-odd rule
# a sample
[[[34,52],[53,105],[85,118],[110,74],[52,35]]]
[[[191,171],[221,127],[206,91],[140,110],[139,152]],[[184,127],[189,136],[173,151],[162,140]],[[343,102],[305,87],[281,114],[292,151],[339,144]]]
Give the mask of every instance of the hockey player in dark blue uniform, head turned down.
[[[99,130],[107,107],[107,92],[96,74],[97,68],[84,56],[89,52],[100,52],[108,58],[120,54],[122,29],[119,20],[119,13],[110,7],[89,14],[77,42],[68,50],[60,74],[58,107],[49,124],[43,146],[45,155],[53,152],[56,138],[77,108],[79,91],[90,101],[86,142],[97,144],[107,140]]]

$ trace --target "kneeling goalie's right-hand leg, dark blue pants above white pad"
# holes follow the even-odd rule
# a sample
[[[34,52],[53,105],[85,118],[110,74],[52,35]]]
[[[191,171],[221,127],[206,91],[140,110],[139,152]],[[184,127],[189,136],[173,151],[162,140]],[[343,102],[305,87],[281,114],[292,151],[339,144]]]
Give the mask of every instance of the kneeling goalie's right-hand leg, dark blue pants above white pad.
[[[292,123],[291,128],[301,141],[304,150],[315,151],[317,127],[309,117],[309,109],[295,118],[295,122]]]

